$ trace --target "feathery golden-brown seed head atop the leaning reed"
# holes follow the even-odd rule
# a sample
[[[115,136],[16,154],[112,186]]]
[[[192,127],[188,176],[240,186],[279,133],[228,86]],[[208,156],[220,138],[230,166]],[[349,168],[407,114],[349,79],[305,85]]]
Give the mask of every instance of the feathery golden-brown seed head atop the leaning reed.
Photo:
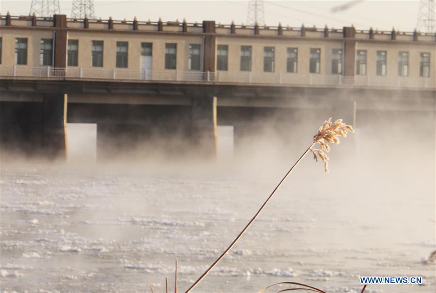
[[[323,125],[318,130],[318,133],[313,137],[313,143],[318,143],[321,149],[310,148],[313,154],[313,158],[318,162],[318,157],[324,162],[324,170],[328,173],[328,156],[325,153],[330,151],[330,142],[338,144],[339,137],[347,137],[348,131],[354,132],[351,125],[347,125],[342,122],[342,119],[338,119],[335,123],[332,123],[332,118],[324,121]],[[325,151],[325,153],[324,153]]]

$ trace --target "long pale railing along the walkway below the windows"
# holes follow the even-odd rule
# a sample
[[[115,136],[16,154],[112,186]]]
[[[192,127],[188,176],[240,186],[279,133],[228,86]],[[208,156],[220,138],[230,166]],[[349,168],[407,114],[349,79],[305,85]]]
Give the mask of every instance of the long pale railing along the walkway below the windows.
[[[59,77],[117,80],[194,81],[245,84],[330,85],[364,87],[436,88],[436,79],[430,77],[373,77],[297,73],[231,73],[226,71],[201,72],[178,70],[128,70],[104,68],[54,68],[15,65],[0,66],[0,77]]]

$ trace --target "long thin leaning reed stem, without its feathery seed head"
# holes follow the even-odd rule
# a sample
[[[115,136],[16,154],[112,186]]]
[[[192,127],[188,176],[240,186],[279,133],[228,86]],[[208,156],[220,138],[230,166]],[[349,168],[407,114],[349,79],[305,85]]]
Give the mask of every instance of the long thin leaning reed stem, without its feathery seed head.
[[[286,175],[283,177],[282,180],[280,180],[280,182],[278,183],[277,186],[275,186],[273,192],[270,194],[270,196],[265,200],[265,202],[263,202],[262,206],[260,207],[260,209],[258,210],[258,212],[251,218],[251,220],[248,222],[247,225],[245,225],[244,229],[242,229],[242,231],[238,234],[238,236],[236,236],[236,238],[232,241],[232,243],[226,248],[226,250],[224,250],[224,252],[210,265],[210,267],[200,276],[200,278],[198,278],[194,284],[191,285],[191,287],[188,288],[188,290],[186,290],[185,293],[190,292],[192,289],[194,289],[194,287],[196,285],[198,285],[199,282],[201,282],[201,280],[206,277],[210,270],[213,269],[215,267],[215,265],[221,261],[221,259],[226,255],[226,253],[236,244],[236,242],[239,240],[239,238],[241,238],[241,236],[245,233],[245,231],[247,231],[248,227],[251,226],[251,224],[254,222],[254,220],[258,217],[258,215],[260,214],[260,212],[263,210],[263,208],[266,206],[266,204],[268,203],[268,201],[271,200],[271,198],[273,197],[273,195],[275,194],[275,192],[277,191],[277,189],[283,184],[283,182],[286,180],[286,178],[288,178],[289,174],[291,174],[292,170],[295,168],[295,166],[298,165],[298,163],[300,163],[300,161],[305,157],[305,155],[310,151],[310,148],[312,148],[315,145],[315,142],[312,143],[307,150],[300,156],[300,158],[295,162],[295,164],[291,167],[291,169],[286,173]]]

